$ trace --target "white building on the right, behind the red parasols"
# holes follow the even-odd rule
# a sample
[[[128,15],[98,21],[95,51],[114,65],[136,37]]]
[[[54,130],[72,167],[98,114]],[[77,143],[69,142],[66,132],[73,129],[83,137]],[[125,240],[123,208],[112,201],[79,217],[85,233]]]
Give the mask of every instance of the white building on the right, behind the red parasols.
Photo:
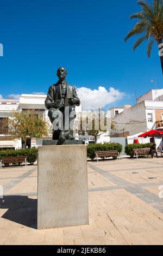
[[[135,106],[124,105],[124,111],[115,115],[114,120],[117,132],[123,130],[129,138],[152,129],[163,129],[163,89],[143,94]],[[162,146],[162,138],[155,138],[155,142]]]

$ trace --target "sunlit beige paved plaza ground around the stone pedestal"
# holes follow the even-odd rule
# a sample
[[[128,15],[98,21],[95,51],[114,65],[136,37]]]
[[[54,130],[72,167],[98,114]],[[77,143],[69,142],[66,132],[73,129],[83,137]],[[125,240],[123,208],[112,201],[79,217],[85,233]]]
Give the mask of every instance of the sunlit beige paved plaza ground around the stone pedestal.
[[[48,230],[36,229],[37,165],[1,169],[0,244],[161,245],[163,158],[88,162],[87,167],[90,225]]]

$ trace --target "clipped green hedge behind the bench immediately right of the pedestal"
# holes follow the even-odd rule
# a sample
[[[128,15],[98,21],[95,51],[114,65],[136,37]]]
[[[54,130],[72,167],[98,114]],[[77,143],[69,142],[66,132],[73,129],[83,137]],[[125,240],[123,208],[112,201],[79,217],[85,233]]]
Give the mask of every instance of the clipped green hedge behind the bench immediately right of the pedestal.
[[[91,160],[95,159],[95,151],[109,151],[117,150],[119,153],[122,152],[122,145],[119,143],[104,143],[104,144],[90,144],[87,146],[87,157]]]

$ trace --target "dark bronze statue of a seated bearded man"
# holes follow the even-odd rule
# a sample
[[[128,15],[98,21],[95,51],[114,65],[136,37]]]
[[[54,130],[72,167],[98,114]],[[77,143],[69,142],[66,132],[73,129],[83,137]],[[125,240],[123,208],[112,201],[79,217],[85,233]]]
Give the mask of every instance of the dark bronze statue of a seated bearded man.
[[[48,117],[53,124],[53,140],[74,140],[72,127],[76,118],[75,107],[80,105],[80,100],[76,88],[68,85],[65,80],[66,75],[67,70],[65,68],[57,70],[59,81],[49,87],[45,100],[45,106],[49,110]],[[62,127],[58,125],[57,129],[55,121],[58,121],[58,116],[62,118],[63,125]]]

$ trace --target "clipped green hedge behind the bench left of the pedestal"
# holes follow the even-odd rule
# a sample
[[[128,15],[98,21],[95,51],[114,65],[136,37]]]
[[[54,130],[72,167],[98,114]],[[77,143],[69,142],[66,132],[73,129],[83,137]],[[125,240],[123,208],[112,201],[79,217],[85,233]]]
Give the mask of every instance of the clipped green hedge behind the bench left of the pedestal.
[[[3,157],[27,157],[27,162],[34,164],[37,159],[37,148],[24,148],[21,150],[2,150],[0,151],[0,160]]]

